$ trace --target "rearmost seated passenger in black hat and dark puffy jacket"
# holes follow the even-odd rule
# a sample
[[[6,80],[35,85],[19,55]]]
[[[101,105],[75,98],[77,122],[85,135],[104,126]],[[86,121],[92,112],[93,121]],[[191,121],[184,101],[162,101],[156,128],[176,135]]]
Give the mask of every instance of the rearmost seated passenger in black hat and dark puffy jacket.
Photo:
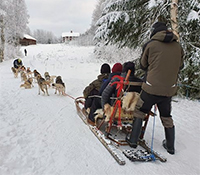
[[[135,76],[135,64],[133,62],[124,63],[121,76],[125,78],[128,73],[128,70],[131,70],[131,74],[128,79],[129,82],[139,82],[139,84],[140,84],[140,82],[142,82],[142,80]],[[108,86],[104,89],[104,91],[102,93],[102,98],[101,98],[102,107],[104,107],[104,105],[107,103],[112,106],[112,100],[110,98],[113,97],[113,95],[115,97],[117,97],[117,89],[116,89],[117,85],[114,84],[111,86],[111,84],[116,81],[120,81],[120,80],[118,78],[111,80],[111,82],[108,84]],[[128,89],[125,89],[125,91],[127,91],[127,92],[140,93],[140,91],[141,91],[141,85],[140,86],[130,85],[130,86],[126,86],[126,88],[128,88]]]

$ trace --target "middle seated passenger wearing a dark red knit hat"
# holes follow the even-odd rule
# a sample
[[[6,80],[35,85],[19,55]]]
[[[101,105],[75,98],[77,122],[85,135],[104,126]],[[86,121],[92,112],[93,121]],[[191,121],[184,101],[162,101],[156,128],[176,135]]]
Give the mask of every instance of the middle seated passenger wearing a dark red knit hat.
[[[114,66],[112,67],[112,73],[110,73],[108,79],[106,81],[103,82],[100,90],[99,90],[99,93],[98,95],[101,96],[103,90],[106,88],[106,86],[108,85],[108,83],[111,81],[112,77],[115,76],[115,75],[120,75],[122,72],[122,64],[121,63],[116,63],[114,64]],[[95,111],[97,109],[101,109],[102,106],[101,106],[101,98],[94,98],[93,101],[92,101],[92,105],[91,105],[91,108],[90,108],[90,113],[88,115],[88,123],[90,123],[91,125],[94,125],[95,124]]]

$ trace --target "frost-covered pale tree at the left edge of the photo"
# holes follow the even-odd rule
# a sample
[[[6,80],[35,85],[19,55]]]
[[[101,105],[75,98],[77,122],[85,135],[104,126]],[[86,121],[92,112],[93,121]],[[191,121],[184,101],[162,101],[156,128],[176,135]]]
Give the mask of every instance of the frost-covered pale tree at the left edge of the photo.
[[[1,46],[3,59],[14,58],[19,53],[19,39],[23,37],[28,23],[28,14],[24,0],[0,0],[1,15]],[[2,14],[2,13],[0,13]]]

